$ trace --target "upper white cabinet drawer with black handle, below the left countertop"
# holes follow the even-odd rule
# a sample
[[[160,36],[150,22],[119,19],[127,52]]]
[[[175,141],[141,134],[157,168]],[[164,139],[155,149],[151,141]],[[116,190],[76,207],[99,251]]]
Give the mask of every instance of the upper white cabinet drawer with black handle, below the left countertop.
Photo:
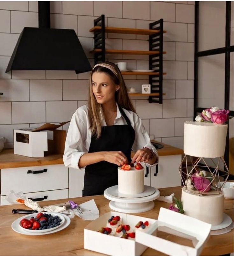
[[[32,173],[33,171],[38,171]],[[43,172],[41,172],[43,171]],[[1,194],[11,190],[31,193],[68,188],[68,168],[64,165],[41,165],[1,170]]]

